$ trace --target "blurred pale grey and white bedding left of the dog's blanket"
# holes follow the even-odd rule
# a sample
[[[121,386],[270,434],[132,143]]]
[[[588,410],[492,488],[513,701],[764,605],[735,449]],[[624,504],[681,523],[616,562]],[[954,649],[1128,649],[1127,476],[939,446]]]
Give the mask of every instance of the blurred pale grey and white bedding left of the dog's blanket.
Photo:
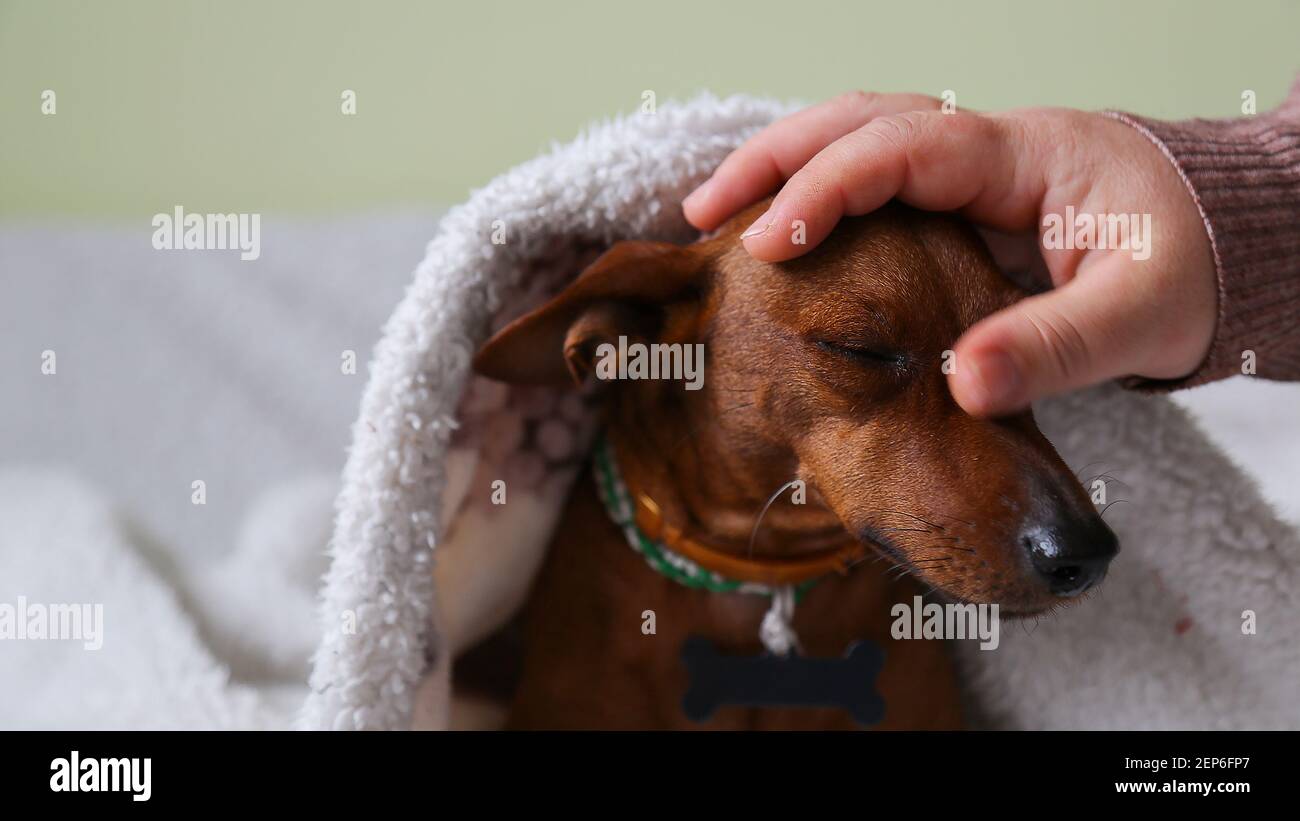
[[[103,616],[96,650],[0,638],[0,729],[300,711],[365,356],[437,220],[263,225],[256,262],[155,251],[148,214],[0,225],[0,611]]]

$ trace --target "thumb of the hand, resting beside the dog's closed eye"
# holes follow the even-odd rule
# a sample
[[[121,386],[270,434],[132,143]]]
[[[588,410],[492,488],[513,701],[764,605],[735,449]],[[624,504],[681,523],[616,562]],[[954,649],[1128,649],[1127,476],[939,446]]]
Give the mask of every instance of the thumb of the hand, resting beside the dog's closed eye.
[[[1131,288],[1093,272],[1030,296],[971,326],[954,347],[949,390],[971,416],[1022,410],[1030,403],[1140,368],[1149,323]]]

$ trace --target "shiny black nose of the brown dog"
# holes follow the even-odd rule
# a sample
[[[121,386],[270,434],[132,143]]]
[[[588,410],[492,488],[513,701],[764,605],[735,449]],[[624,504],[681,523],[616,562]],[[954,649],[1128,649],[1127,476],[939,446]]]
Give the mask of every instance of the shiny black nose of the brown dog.
[[[1034,525],[1022,542],[1034,570],[1063,599],[1101,583],[1119,552],[1119,540],[1101,517]]]

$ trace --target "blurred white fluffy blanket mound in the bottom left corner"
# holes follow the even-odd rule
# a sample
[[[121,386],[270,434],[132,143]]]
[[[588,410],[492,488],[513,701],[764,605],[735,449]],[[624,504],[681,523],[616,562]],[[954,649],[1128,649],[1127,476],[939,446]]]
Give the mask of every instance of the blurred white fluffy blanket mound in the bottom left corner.
[[[0,640],[4,729],[272,729],[300,704],[290,682],[231,681],[134,534],[79,479],[0,472],[0,607],[27,625]],[[82,616],[61,629],[51,613],[68,607]]]

